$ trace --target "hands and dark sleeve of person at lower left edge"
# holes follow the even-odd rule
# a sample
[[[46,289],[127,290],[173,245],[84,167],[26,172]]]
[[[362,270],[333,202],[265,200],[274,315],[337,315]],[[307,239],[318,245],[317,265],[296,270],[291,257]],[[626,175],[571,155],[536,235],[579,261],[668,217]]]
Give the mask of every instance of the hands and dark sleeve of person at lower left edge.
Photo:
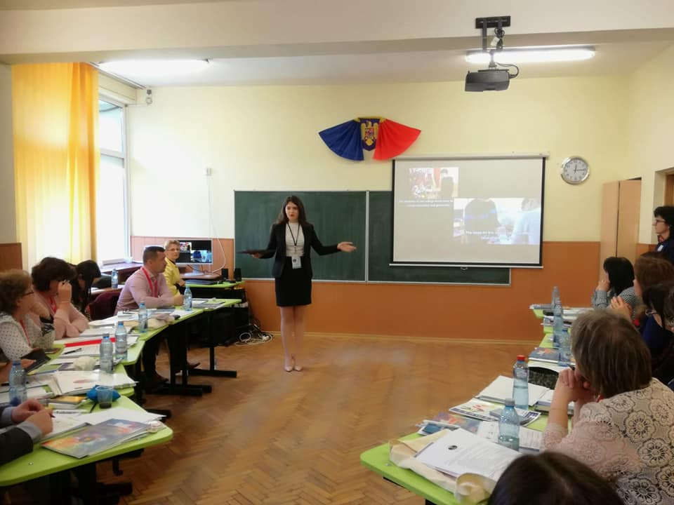
[[[32,452],[33,444],[51,432],[51,410],[34,398],[18,407],[0,407],[0,426],[0,464],[5,464]]]

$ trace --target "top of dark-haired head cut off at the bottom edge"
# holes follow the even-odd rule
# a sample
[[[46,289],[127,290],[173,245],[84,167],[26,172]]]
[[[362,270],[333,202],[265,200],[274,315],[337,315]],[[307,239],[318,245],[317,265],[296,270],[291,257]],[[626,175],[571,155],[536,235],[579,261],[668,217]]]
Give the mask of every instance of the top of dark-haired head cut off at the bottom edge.
[[[487,505],[623,505],[606,480],[560,452],[518,457],[498,479]]]

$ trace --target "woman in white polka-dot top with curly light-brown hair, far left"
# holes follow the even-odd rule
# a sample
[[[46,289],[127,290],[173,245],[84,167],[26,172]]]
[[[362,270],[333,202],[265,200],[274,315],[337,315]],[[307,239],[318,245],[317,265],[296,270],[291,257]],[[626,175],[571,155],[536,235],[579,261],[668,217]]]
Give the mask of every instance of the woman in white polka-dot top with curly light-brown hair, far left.
[[[0,361],[19,359],[35,348],[52,346],[51,325],[43,330],[31,318],[36,316],[39,321],[34,311],[40,309],[30,276],[25,271],[0,272]]]

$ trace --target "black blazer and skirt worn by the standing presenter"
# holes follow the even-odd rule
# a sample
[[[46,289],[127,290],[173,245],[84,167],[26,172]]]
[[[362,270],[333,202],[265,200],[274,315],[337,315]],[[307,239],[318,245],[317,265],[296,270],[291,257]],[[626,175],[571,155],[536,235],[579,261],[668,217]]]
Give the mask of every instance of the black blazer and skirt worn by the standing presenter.
[[[302,268],[293,269],[292,260],[286,256],[286,223],[273,224],[267,249],[261,257],[274,257],[272,274],[275,278],[276,304],[279,307],[296,307],[311,303],[311,249],[319,255],[338,253],[337,245],[323,245],[312,224],[302,226],[304,249]]]

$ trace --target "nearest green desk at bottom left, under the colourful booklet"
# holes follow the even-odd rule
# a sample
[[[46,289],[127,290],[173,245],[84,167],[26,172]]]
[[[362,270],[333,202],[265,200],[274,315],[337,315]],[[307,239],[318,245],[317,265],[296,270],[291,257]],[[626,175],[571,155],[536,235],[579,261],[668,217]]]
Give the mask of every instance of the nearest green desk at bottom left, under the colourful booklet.
[[[143,410],[136,403],[133,403],[129,398],[122,396],[114,402],[114,406]],[[88,407],[86,407],[88,410]],[[95,408],[98,410],[98,407]],[[72,469],[79,469],[80,475],[80,490],[84,492],[84,503],[97,503],[96,501],[96,478],[95,478],[95,463],[103,459],[110,459],[112,457],[121,456],[130,452],[139,452],[152,445],[166,443],[173,438],[173,431],[166,427],[157,433],[150,433],[149,435],[139,438],[138,440],[131,440],[129,442],[112,447],[104,452],[93,454],[93,456],[77,459],[66,456],[58,452],[53,452],[44,449],[37,444],[33,447],[33,452],[25,454],[13,462],[9,462],[0,466],[0,487],[11,486],[26,482],[27,480],[36,479],[44,476],[55,476],[54,480],[66,480],[65,486],[67,488],[67,480],[70,480],[67,473],[62,474]],[[60,475],[58,475],[60,474]],[[82,478],[84,476],[85,478]],[[84,487],[84,488],[83,488]],[[88,497],[88,499],[87,499]],[[54,499],[55,497],[51,497]],[[70,503],[70,501],[68,501]]]

